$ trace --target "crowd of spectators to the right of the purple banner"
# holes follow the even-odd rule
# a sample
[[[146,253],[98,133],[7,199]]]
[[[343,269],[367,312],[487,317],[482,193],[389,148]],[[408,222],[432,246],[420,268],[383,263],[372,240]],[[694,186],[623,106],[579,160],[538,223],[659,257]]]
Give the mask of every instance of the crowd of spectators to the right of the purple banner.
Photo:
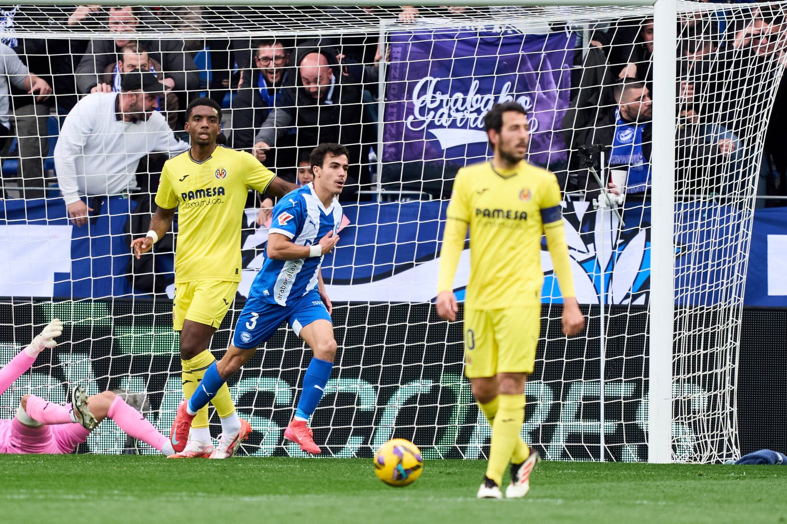
[[[783,6],[733,14],[708,10],[678,24],[677,197],[734,202],[745,195],[749,174],[759,178],[760,196],[787,195],[787,143],[778,117],[787,93],[783,79],[777,84],[787,65],[785,14]],[[567,190],[598,189],[585,170],[589,161],[583,151],[600,145],[611,168],[628,171],[628,193],[647,195],[654,44],[652,19],[618,20],[594,32],[578,55],[571,109],[563,119],[570,150],[563,172]],[[778,93],[769,119],[774,87]],[[761,199],[758,205],[787,205],[787,200]]]

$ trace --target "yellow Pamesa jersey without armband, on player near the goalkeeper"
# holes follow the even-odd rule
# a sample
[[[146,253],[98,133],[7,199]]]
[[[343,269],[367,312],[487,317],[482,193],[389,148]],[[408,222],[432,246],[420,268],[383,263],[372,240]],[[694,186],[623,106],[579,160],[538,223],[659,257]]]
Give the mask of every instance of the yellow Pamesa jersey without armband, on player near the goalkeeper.
[[[175,282],[241,279],[241,227],[249,189],[275,175],[249,153],[216,147],[204,162],[190,151],[164,163],[156,204],[179,207]]]

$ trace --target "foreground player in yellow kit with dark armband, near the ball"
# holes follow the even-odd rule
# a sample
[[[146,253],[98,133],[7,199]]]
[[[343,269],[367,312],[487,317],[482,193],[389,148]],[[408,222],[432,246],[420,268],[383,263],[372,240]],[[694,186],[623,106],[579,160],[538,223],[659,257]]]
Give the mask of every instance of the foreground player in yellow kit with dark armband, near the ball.
[[[563,333],[585,326],[574,294],[560,188],[555,175],[524,161],[530,135],[527,113],[515,102],[486,114],[491,161],[460,169],[446,212],[437,308],[456,320],[456,265],[470,228],[470,281],[464,308],[465,375],[492,426],[486,475],[478,498],[499,499],[508,463],[508,498],[525,496],[538,463],[519,436],[525,417],[525,382],[533,372],[540,329],[541,234],[563,294]]]

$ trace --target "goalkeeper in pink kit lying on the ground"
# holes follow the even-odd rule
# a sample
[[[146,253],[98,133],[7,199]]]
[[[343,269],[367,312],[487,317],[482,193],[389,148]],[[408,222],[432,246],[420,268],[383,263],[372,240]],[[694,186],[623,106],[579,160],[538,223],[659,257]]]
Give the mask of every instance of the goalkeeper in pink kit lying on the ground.
[[[0,369],[0,395],[30,369],[42,349],[57,345],[54,339],[62,332],[63,323],[54,319]],[[70,404],[54,404],[35,395],[22,397],[17,415],[0,420],[0,453],[71,453],[106,418],[113,419],[128,435],[164,455],[175,452],[167,437],[115,393],[105,391],[88,397],[77,386],[71,393]]]

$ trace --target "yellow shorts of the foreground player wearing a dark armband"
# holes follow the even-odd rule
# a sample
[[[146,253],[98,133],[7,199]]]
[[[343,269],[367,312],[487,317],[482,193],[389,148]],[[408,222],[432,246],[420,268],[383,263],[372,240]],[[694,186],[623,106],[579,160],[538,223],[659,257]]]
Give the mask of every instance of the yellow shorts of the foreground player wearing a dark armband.
[[[538,306],[464,310],[464,374],[532,373],[541,330]]]

